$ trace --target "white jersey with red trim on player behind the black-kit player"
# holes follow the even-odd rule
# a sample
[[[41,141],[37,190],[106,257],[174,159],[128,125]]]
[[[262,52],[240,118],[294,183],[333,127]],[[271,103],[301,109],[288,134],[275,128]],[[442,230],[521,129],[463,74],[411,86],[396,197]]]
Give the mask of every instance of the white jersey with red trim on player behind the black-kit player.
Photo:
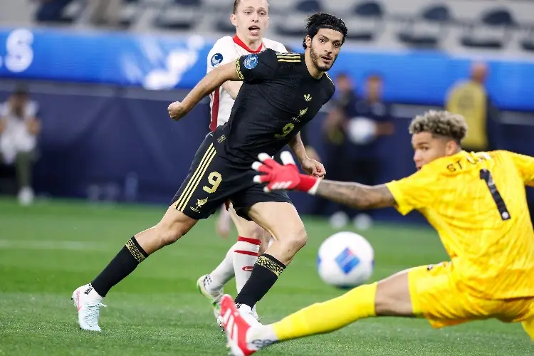
[[[274,51],[286,53],[286,47],[282,43],[263,38],[261,46],[256,51],[252,51],[248,48],[239,37],[224,36],[216,41],[211,51],[208,53],[208,70],[216,68],[221,64],[230,63],[236,61],[237,58],[249,53],[259,53],[266,48],[271,48]],[[230,94],[224,90],[223,87],[219,87],[209,95],[210,107],[211,107],[211,122],[209,128],[214,131],[218,126],[224,125],[230,118],[232,106],[234,105],[234,99]]]

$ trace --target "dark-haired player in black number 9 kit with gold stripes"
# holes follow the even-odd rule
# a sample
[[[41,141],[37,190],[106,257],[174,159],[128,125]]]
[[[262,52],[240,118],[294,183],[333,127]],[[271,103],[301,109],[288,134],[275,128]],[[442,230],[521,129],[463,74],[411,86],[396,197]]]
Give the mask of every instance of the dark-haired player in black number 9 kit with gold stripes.
[[[182,103],[169,105],[169,115],[179,120],[227,80],[244,82],[229,122],[206,136],[162,220],[129,239],[100,275],[74,291],[80,328],[100,331],[99,310],[110,288],[150,254],[180,239],[199,219],[208,218],[226,199],[231,199],[238,214],[256,221],[275,239],[259,256],[236,298],[241,314],[258,323],[251,308],[305,245],[306,232],[286,192],[266,193],[253,182],[256,172],[251,164],[259,153],[275,155],[289,145],[305,172],[325,175],[323,164],[305,154],[299,131],[334,94],[326,71],[340,53],[347,28],[341,19],[320,13],[308,18],[305,31],[304,54],[267,49],[242,56],[211,70]]]

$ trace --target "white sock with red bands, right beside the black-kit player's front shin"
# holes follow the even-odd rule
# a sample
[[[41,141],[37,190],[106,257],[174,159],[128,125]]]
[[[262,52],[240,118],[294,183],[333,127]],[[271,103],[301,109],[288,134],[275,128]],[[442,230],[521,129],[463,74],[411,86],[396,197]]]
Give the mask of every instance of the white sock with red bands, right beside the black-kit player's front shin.
[[[258,239],[239,236],[237,243],[234,245],[234,274],[236,276],[237,293],[241,292],[252,274],[254,263],[258,260],[260,244],[261,241]]]

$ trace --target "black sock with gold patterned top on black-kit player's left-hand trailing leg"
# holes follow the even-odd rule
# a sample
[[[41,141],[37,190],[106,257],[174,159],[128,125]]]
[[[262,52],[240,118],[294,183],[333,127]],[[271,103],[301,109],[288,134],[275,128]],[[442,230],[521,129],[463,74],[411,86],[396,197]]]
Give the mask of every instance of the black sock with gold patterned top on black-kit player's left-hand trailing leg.
[[[126,242],[122,250],[117,253],[117,256],[111,260],[108,266],[104,268],[104,271],[100,272],[93,282],[91,282],[91,286],[95,288],[96,293],[105,297],[115,284],[132,273],[137,265],[145,261],[147,257],[148,253],[137,244],[135,236],[132,237],[132,239]]]

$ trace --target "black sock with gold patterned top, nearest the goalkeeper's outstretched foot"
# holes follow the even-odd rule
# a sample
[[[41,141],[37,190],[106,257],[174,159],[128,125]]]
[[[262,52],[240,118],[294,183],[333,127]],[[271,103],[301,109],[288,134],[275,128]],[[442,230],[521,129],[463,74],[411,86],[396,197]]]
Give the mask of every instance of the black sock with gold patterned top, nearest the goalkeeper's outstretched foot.
[[[254,263],[251,276],[236,297],[236,304],[253,307],[280,276],[286,266],[271,255],[263,253]]]

